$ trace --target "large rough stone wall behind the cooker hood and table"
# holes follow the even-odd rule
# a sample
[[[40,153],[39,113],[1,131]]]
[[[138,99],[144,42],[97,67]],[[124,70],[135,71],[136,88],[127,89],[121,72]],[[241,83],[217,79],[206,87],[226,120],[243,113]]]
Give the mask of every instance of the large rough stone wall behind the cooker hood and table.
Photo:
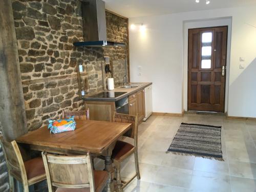
[[[127,60],[125,48],[77,48],[83,41],[80,1],[12,1],[29,131],[59,118],[62,110],[82,110],[77,63],[87,91],[102,90],[103,56]],[[127,20],[106,12],[108,40],[127,44]],[[114,72],[115,74],[115,72]]]

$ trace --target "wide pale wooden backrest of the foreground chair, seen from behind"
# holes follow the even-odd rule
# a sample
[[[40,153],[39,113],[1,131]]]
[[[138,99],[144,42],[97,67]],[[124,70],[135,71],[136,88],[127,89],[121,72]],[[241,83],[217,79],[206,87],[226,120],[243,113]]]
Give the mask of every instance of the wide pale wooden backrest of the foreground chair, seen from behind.
[[[82,156],[58,156],[42,152],[49,192],[52,186],[63,188],[90,187],[95,191],[93,166],[90,154]]]

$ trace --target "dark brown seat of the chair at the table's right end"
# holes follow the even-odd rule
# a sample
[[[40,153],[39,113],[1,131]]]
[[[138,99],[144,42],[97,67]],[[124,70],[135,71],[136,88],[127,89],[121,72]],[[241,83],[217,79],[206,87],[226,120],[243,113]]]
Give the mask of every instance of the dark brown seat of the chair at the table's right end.
[[[135,150],[135,147],[124,141],[117,141],[115,148],[112,152],[112,159],[119,160],[126,153]]]

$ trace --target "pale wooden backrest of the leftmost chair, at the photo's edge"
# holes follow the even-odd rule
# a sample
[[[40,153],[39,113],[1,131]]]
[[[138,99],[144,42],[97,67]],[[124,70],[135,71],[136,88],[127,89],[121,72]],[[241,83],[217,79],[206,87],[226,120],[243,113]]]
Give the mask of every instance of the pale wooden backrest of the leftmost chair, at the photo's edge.
[[[5,141],[2,135],[0,135],[0,141],[3,147],[9,174],[23,183],[24,191],[29,191],[25,165],[16,141]]]

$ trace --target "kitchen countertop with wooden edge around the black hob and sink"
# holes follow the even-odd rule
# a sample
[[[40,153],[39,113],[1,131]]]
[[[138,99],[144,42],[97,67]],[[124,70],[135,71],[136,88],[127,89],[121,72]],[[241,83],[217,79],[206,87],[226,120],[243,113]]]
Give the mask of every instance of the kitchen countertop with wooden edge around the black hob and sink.
[[[127,84],[129,84],[129,83],[127,83]],[[138,87],[136,87],[136,88],[117,87],[117,88],[115,88],[115,90],[112,90],[112,91],[106,90],[106,92],[126,92],[125,94],[122,94],[122,95],[120,95],[118,97],[115,97],[115,98],[93,98],[92,97],[93,95],[96,95],[97,93],[103,92],[103,91],[100,91],[100,92],[97,92],[97,93],[88,94],[85,98],[83,98],[83,100],[85,100],[85,101],[118,101],[119,99],[122,99],[124,97],[129,96],[129,95],[132,95],[132,94],[144,89],[145,87],[150,86],[152,84],[152,82],[138,82],[138,83],[133,82],[132,84],[136,85]]]

